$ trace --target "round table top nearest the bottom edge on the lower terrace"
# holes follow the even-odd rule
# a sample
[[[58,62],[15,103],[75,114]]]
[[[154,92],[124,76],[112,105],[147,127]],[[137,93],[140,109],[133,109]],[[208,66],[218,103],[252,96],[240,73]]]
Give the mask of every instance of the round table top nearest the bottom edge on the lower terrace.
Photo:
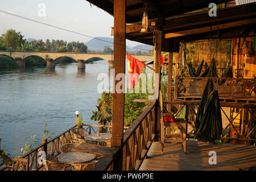
[[[96,158],[96,155],[86,152],[67,152],[60,154],[57,158],[61,163],[80,164],[90,162]]]

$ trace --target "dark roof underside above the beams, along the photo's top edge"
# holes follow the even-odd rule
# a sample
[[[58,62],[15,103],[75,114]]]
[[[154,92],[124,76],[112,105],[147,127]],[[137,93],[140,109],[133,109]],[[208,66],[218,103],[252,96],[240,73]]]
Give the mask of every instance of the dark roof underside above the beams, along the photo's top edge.
[[[113,16],[114,0],[86,0],[93,5],[100,7]],[[126,0],[126,23],[141,22],[144,8],[148,12],[150,19],[158,18],[163,14],[163,18],[168,16],[188,13],[203,9],[209,3],[218,4],[232,0]],[[144,7],[146,5],[146,7]]]

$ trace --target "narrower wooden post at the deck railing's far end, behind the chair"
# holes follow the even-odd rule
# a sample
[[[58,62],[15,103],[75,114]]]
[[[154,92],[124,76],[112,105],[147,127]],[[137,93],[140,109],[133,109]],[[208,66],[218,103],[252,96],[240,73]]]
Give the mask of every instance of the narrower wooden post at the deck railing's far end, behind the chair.
[[[158,27],[160,30],[162,29],[163,25],[163,15],[160,14],[158,16]],[[154,75],[158,74],[158,77],[154,76],[154,83],[159,82],[159,85],[155,85],[154,87],[157,86],[156,92],[158,92],[159,96],[159,90],[160,90],[160,80],[161,80],[161,51],[162,51],[162,39],[163,39],[163,34],[162,31],[156,30],[156,44],[154,46]],[[159,79],[158,81],[156,79]],[[155,93],[156,94],[156,93]],[[159,101],[159,97],[158,97]],[[159,102],[158,102],[159,103]],[[158,134],[160,131],[160,107],[159,104],[156,104],[156,109],[155,109],[155,134]]]

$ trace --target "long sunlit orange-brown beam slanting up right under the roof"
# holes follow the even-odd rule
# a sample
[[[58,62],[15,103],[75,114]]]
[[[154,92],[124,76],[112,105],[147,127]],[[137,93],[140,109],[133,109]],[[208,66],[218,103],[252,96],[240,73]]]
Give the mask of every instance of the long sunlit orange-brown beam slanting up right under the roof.
[[[256,18],[249,19],[249,20],[241,20],[241,21],[232,22],[232,23],[215,25],[215,26],[212,26],[212,31],[242,26],[242,25],[246,25],[246,24],[253,24],[253,23],[256,23]],[[184,36],[184,35],[200,34],[200,33],[210,32],[210,31],[211,31],[210,26],[202,27],[202,28],[194,28],[192,30],[185,30],[185,31],[172,32],[172,33],[165,34],[164,39],[175,38],[177,36]]]

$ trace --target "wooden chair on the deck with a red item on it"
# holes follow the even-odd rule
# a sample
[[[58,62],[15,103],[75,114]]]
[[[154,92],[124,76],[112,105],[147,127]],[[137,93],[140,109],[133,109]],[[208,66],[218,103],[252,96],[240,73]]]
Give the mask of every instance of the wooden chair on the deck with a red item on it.
[[[164,138],[180,137],[181,141],[171,140],[171,142],[182,142],[184,153],[186,153],[186,139],[187,139],[187,122],[183,118],[174,118],[175,122],[164,123],[164,110],[163,110],[163,94],[159,92],[160,102],[160,147],[161,154],[163,154]],[[180,130],[180,135],[164,134],[164,127],[177,127]]]

